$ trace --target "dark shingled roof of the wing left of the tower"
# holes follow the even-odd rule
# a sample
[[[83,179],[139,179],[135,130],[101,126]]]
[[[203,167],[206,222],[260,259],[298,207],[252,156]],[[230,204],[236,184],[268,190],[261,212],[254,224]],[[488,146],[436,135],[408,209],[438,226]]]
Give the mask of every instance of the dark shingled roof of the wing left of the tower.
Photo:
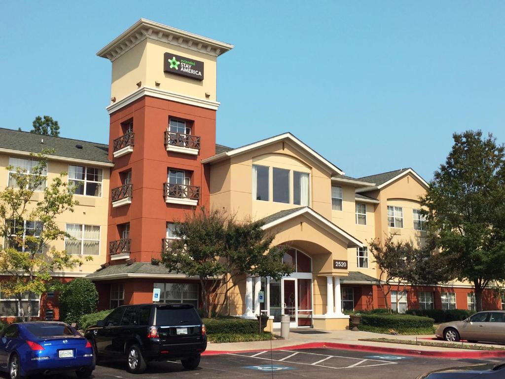
[[[81,145],[82,149],[77,149],[76,145]],[[0,148],[30,153],[40,153],[42,150],[51,149],[55,152],[50,155],[58,157],[112,163],[108,158],[109,145],[12,129],[0,128]]]

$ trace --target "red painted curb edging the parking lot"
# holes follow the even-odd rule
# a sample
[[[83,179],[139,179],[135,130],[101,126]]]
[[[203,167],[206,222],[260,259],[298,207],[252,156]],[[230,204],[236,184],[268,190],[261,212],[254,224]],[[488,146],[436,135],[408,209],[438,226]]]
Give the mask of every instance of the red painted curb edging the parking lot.
[[[353,344],[339,344],[333,342],[311,342],[308,344],[283,346],[278,348],[273,348],[272,350],[299,350],[299,349],[317,349],[317,348],[330,348],[330,349],[345,349],[345,350],[357,350],[357,351],[370,351],[378,353],[390,353],[396,355],[414,355],[414,356],[424,356],[432,358],[503,358],[505,357],[505,350],[493,351],[426,351],[426,350],[413,350],[413,349],[401,349],[401,348],[390,348],[381,346],[367,346],[367,345],[353,345]],[[255,352],[264,351],[265,349],[251,349],[251,350],[241,350],[241,351],[215,351],[207,350],[202,355],[219,355],[219,354],[237,354],[245,352]]]

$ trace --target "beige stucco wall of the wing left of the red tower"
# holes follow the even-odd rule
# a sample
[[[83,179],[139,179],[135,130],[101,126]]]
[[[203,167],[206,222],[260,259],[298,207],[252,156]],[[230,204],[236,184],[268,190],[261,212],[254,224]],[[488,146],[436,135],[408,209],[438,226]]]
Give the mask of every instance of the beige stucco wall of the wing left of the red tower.
[[[15,155],[0,154],[0,191],[3,191],[9,180],[9,173],[6,167],[9,165],[9,158],[16,157]],[[19,156],[19,158],[27,159],[27,157]],[[28,157],[29,158],[29,157]],[[76,166],[83,166],[82,164],[75,163]],[[69,163],[50,160],[47,163],[47,185],[49,185],[54,178],[59,176],[61,172],[68,172]],[[98,225],[100,226],[100,254],[93,256],[93,260],[85,262],[81,268],[74,268],[73,270],[66,270],[66,276],[84,276],[87,273],[94,272],[101,264],[105,263],[107,255],[107,212],[109,207],[109,175],[110,170],[106,167],[103,169],[104,178],[102,181],[102,197],[80,196],[76,195],[75,200],[79,205],[75,206],[74,212],[65,212],[58,216],[57,223],[62,229],[66,229],[67,223],[84,224],[84,225]],[[66,177],[68,179],[68,176]],[[35,192],[30,206],[35,207],[36,202],[43,199],[43,192]],[[4,246],[3,238],[0,237],[0,244]],[[64,241],[56,241],[49,246],[57,250],[64,250]],[[77,256],[76,256],[77,257]],[[83,259],[84,262],[84,259]]]

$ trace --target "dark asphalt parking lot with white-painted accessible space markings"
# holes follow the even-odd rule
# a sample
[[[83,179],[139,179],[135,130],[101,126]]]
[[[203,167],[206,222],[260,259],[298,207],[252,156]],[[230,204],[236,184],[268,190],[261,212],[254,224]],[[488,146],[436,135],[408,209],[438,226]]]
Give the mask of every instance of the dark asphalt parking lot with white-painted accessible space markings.
[[[335,349],[274,350],[203,356],[198,369],[184,370],[180,362],[152,362],[142,375],[128,373],[121,362],[99,365],[95,378],[236,378],[236,377],[335,377],[391,379],[416,378],[438,368],[466,366],[485,361],[435,359]],[[7,375],[2,375],[7,377]],[[75,375],[51,375],[47,379],[70,379]]]

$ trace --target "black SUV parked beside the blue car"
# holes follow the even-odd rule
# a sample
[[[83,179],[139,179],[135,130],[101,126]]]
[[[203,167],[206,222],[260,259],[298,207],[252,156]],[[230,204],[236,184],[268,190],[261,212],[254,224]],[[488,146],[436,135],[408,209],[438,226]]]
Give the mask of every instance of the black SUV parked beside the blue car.
[[[195,369],[207,348],[205,325],[191,304],[123,305],[84,334],[97,360],[127,358],[133,373],[151,360],[180,359],[184,368]]]

